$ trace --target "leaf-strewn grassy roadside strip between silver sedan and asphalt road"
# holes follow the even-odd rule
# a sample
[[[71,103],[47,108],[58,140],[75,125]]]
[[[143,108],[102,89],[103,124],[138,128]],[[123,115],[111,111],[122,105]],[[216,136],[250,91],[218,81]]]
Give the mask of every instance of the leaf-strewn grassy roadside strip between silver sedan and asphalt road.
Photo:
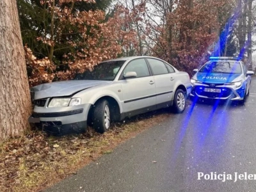
[[[40,191],[170,116],[167,109],[138,115],[116,122],[104,134],[89,127],[83,134],[62,137],[30,131],[12,138],[0,145],[0,191]]]

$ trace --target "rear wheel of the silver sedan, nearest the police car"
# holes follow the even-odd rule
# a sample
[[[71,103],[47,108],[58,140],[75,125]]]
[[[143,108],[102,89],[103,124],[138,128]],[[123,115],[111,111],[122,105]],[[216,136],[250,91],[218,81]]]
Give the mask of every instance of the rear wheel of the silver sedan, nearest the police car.
[[[173,110],[182,113],[186,109],[186,94],[183,90],[177,90],[173,97]]]

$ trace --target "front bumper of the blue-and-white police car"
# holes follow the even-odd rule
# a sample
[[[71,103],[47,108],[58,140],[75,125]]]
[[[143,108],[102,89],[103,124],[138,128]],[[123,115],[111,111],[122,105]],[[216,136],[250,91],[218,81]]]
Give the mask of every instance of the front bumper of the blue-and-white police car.
[[[236,88],[235,85],[220,85],[215,86],[214,89],[220,89],[220,93],[205,92],[204,88],[211,88],[205,84],[195,84],[190,93],[190,97],[198,99],[220,99],[220,100],[243,100],[245,93],[245,86],[242,85]]]

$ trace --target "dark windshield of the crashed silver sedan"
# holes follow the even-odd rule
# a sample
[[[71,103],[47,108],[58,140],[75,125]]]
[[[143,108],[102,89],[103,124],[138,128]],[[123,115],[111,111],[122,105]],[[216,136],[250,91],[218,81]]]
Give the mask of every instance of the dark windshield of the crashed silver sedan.
[[[106,80],[113,81],[125,61],[108,61],[99,63],[92,71],[86,70],[83,74],[77,74],[74,80]]]

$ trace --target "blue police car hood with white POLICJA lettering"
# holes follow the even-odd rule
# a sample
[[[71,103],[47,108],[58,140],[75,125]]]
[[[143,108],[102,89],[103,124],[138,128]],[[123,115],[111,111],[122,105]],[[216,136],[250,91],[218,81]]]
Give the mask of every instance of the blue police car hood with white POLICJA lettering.
[[[193,79],[204,83],[230,83],[237,79],[241,74],[224,74],[224,73],[203,73],[198,72]],[[239,81],[239,80],[237,80]]]

